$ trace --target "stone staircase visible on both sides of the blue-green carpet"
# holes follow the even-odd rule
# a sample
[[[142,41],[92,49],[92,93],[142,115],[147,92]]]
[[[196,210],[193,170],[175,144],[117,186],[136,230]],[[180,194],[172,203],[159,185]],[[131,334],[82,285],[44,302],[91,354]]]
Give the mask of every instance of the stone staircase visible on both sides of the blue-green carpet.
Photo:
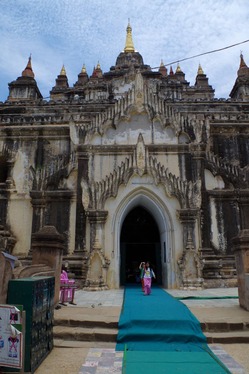
[[[65,307],[64,315],[55,312],[54,341],[55,346],[115,347],[118,333],[120,309],[116,308],[70,308]],[[71,311],[71,313],[70,313]],[[67,316],[65,315],[67,313]],[[215,311],[214,311],[215,313]],[[249,343],[248,321],[217,321],[202,322],[202,331],[208,344]]]

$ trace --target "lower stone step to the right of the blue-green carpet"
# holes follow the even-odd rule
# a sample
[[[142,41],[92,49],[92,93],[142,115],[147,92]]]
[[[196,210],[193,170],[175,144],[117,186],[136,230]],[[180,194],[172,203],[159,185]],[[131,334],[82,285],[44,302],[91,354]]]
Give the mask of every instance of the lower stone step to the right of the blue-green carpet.
[[[238,344],[249,343],[248,331],[229,331],[229,332],[206,332],[208,344]]]

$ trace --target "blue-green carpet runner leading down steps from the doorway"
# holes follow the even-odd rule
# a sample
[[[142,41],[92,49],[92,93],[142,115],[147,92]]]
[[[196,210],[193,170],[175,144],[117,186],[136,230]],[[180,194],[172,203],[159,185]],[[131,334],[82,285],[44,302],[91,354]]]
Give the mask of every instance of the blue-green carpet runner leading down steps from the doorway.
[[[230,373],[187,306],[155,286],[150,296],[138,286],[126,287],[116,350],[124,351],[127,374]]]

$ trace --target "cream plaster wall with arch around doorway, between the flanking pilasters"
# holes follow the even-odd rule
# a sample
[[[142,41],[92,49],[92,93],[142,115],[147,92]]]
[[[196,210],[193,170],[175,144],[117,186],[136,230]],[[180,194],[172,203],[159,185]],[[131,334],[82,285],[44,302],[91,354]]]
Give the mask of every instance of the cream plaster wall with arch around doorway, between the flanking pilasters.
[[[119,188],[115,199],[108,199],[105,209],[109,215],[105,224],[104,252],[111,260],[107,283],[118,288],[120,282],[120,233],[123,221],[130,210],[142,205],[149,210],[158,224],[161,251],[163,285],[176,288],[179,284],[177,259],[183,251],[182,225],[176,217],[179,203],[164,193],[162,186],[155,186],[150,177],[134,176],[126,186]],[[166,262],[163,261],[163,243],[166,244]]]

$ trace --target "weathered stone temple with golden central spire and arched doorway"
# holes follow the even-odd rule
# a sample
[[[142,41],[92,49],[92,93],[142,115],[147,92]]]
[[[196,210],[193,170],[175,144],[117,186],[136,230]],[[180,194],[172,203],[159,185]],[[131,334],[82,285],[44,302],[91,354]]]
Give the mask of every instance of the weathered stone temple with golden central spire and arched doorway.
[[[124,38],[125,39],[125,38]],[[249,68],[230,98],[201,65],[145,64],[130,23],[108,72],[66,67],[43,99],[31,57],[0,103],[0,250],[32,262],[54,226],[84,289],[136,281],[150,261],[165,288],[233,287],[232,239],[249,229]],[[239,56],[238,56],[239,57]],[[225,77],[224,77],[225,79]]]

